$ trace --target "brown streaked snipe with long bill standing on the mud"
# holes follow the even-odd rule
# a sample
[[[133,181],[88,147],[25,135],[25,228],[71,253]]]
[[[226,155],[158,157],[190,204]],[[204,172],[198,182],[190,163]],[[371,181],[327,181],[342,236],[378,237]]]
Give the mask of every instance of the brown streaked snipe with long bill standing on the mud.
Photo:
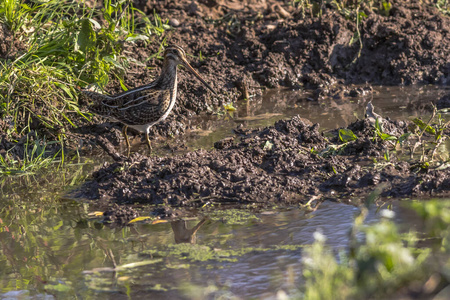
[[[147,85],[113,96],[83,91],[84,95],[93,101],[93,104],[88,107],[93,113],[124,124],[122,133],[127,144],[128,156],[130,156],[128,127],[145,132],[145,138],[151,151],[152,146],[148,137],[150,127],[166,119],[175,105],[178,65],[185,66],[208,89],[217,94],[191,67],[186,59],[186,53],[178,46],[170,46],[164,51],[161,73],[158,78]]]

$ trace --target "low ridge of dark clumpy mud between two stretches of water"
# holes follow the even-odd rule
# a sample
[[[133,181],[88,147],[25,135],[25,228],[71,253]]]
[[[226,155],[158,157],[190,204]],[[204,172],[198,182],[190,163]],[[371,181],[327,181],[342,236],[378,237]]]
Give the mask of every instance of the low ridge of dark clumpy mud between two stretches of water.
[[[384,132],[397,137],[411,126],[390,120],[383,125]],[[327,198],[346,202],[376,188],[385,197],[450,195],[447,169],[427,170],[399,162],[394,155],[387,162],[384,154],[392,145],[374,138],[368,119],[348,128],[357,139],[343,145],[337,130],[325,138],[319,124],[299,116],[259,130],[241,126],[234,138],[216,142],[215,150],[117,158],[96,171],[77,196],[162,205],[170,211],[213,203],[273,206]],[[159,213],[167,215],[167,210],[160,208]]]

